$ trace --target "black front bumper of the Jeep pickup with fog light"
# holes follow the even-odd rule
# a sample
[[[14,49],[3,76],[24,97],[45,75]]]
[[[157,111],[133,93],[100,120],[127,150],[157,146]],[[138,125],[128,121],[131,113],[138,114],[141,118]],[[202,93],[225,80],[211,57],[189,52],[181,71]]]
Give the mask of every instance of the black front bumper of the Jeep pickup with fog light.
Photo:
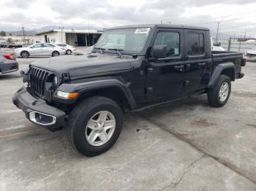
[[[26,87],[21,87],[12,97],[13,104],[22,109],[31,122],[46,128],[64,126],[65,112],[48,105],[44,100],[34,98]]]

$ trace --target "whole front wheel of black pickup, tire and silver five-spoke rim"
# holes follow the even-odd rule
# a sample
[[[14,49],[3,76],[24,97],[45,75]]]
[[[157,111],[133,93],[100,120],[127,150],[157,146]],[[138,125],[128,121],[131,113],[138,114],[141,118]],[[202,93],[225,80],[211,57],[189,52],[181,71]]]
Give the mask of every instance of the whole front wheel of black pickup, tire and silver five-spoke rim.
[[[69,140],[82,155],[106,152],[116,143],[123,124],[123,114],[115,101],[91,97],[78,104],[69,115]]]

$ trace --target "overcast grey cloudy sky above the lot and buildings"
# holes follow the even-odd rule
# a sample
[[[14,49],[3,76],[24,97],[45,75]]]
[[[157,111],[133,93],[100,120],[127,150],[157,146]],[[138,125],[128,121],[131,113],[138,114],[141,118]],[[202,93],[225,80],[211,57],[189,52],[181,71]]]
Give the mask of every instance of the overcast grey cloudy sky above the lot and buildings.
[[[43,26],[102,29],[146,23],[204,26],[256,37],[255,0],[1,0],[0,31]]]

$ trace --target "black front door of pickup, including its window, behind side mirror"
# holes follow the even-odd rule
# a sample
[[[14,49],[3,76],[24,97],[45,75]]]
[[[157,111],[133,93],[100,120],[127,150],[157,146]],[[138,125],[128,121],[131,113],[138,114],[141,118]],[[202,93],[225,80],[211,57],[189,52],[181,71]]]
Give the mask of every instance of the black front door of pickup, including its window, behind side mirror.
[[[154,45],[166,45],[167,57],[151,61],[146,65],[146,98],[156,100],[176,98],[184,87],[184,61],[181,44],[183,31],[160,29],[155,36]]]

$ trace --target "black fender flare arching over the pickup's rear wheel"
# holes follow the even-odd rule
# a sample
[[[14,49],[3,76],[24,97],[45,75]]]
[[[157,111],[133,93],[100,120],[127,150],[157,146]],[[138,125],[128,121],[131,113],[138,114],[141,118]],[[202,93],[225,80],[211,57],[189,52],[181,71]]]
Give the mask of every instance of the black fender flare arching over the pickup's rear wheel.
[[[225,70],[231,71],[231,81],[235,80],[235,65],[232,62],[227,63],[220,63],[216,68],[214,69],[214,73],[211,75],[210,82],[208,83],[208,88],[214,87],[219,79],[219,76],[222,74]]]

